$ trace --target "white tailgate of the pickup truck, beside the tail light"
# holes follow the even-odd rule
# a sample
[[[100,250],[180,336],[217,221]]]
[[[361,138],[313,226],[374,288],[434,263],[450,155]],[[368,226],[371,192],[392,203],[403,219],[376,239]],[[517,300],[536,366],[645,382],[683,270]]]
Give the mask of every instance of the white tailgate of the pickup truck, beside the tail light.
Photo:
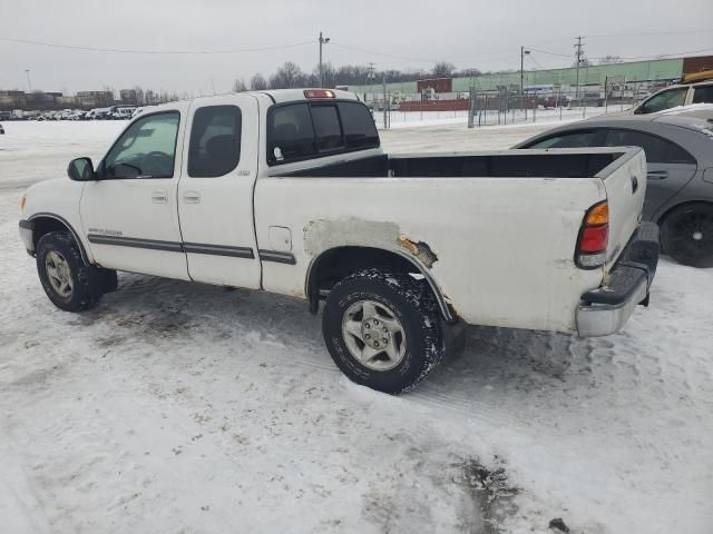
[[[609,205],[609,246],[606,271],[638,228],[646,195],[646,157],[641,148],[623,149],[622,157],[597,175],[604,181]]]

